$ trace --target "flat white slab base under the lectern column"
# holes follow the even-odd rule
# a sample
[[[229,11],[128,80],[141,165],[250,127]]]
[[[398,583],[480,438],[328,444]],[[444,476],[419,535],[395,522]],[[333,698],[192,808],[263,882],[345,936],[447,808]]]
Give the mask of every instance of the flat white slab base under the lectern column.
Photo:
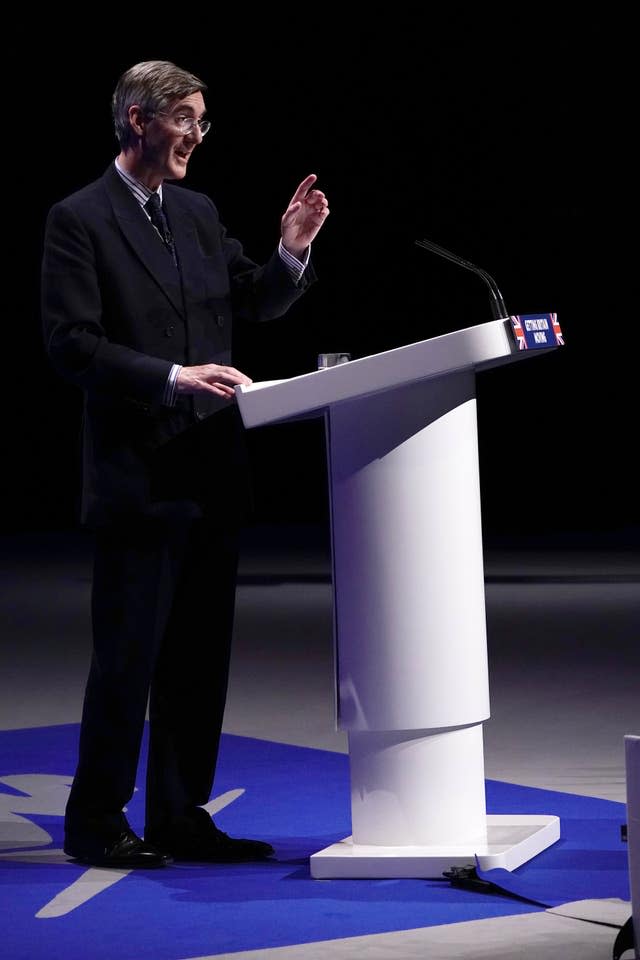
[[[352,837],[310,857],[315,880],[408,878],[441,880],[451,867],[515,870],[560,839],[560,819],[543,814],[488,815],[484,843],[455,846],[383,847],[356,844]]]

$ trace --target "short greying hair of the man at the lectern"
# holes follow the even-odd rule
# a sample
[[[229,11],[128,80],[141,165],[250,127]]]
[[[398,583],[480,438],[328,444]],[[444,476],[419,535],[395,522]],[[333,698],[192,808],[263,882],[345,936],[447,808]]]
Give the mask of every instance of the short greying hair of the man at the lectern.
[[[207,85],[168,60],[145,60],[126,70],[111,98],[116,138],[123,149],[134,142],[129,107],[137,104],[145,114],[166,110],[176,100],[205,91]]]

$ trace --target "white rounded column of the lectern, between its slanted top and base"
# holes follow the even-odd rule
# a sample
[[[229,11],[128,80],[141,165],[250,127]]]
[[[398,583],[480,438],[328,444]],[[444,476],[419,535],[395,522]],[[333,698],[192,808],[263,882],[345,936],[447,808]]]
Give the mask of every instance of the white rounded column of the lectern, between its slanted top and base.
[[[338,725],[353,842],[486,840],[475,375],[327,414]]]

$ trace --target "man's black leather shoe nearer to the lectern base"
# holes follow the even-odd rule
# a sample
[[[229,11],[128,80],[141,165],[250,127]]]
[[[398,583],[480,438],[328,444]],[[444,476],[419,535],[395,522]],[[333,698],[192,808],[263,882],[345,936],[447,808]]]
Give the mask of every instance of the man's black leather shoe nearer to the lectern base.
[[[241,840],[223,833],[208,814],[206,821],[201,817],[193,829],[146,832],[147,839],[174,860],[198,863],[248,863],[266,860],[274,853],[271,844],[263,840]]]

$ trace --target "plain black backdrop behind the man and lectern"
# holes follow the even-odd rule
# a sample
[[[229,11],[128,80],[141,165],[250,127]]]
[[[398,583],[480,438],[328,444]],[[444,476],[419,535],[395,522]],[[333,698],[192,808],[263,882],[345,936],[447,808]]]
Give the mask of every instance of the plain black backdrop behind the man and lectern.
[[[482,281],[415,246],[428,237],[487,270],[511,313],[557,311],[566,338],[478,376],[486,533],[632,543],[634,347],[612,220],[626,190],[615,162],[629,122],[624,25],[398,7],[393,20],[351,9],[350,24],[318,10],[175,10],[149,29],[112,12],[122,22],[40,20],[37,55],[27,22],[9,44],[5,203],[19,205],[20,226],[5,236],[6,527],[77,523],[80,396],[50,370],[40,335],[47,210],[115,156],[120,73],[170,59],[209,87],[213,130],[185,185],[214,199],[250,256],[270,254],[308,173],[331,208],[313,247],[320,282],[282,320],[240,335],[236,366],[254,380],[295,376],[319,352],[360,357],[490,320]],[[256,521],[324,522],[322,422],[249,441]]]

